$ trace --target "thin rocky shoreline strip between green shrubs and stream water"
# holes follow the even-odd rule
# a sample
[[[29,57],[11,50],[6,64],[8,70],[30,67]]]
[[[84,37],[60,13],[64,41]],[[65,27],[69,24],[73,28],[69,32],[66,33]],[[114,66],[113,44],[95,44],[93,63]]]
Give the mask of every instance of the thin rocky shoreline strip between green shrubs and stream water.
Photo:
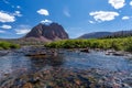
[[[11,52],[16,54],[23,54],[25,56],[45,56],[45,55],[57,55],[63,54],[61,51],[65,51],[66,48],[46,48],[44,46],[23,46],[19,51],[18,50],[8,50],[0,51],[0,56],[4,56]],[[66,51],[69,52],[80,52],[80,53],[90,53],[95,52],[103,52],[106,55],[113,56],[127,56],[128,58],[132,57],[131,52],[123,51],[114,51],[114,50],[100,50],[100,48],[68,48]]]

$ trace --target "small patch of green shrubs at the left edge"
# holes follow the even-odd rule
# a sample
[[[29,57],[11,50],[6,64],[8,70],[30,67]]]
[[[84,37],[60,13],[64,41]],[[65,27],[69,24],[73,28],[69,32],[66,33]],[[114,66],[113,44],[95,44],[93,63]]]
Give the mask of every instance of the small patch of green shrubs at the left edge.
[[[10,50],[10,48],[19,48],[20,45],[18,44],[13,44],[13,43],[9,43],[9,42],[0,42],[0,50]]]

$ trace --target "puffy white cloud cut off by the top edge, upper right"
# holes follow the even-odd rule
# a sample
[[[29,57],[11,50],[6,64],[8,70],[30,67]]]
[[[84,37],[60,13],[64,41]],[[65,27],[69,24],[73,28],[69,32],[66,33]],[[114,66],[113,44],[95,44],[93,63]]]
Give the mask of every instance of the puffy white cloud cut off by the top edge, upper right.
[[[109,3],[114,8],[114,9],[121,9],[125,6],[125,0],[109,0]]]

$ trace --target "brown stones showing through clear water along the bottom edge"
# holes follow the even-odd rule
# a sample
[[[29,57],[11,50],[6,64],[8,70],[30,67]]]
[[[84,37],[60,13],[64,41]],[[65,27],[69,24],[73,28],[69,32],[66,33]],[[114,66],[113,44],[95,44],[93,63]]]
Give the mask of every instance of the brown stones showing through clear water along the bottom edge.
[[[102,72],[102,73],[98,73]],[[107,76],[107,70],[74,70],[67,68],[50,68],[30,75],[22,75],[13,79],[12,84],[7,80],[2,84],[7,88],[123,88],[131,86],[131,79],[119,79],[114,75]],[[116,73],[111,73],[116,74]],[[100,76],[97,76],[100,75]],[[102,76],[101,76],[102,75]],[[118,79],[118,80],[117,80]]]

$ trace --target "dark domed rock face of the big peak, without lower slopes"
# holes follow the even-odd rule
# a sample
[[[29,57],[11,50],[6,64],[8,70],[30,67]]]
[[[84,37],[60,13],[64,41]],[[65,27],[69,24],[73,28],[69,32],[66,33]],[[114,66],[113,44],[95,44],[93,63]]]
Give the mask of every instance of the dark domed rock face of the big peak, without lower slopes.
[[[51,23],[48,25],[40,23],[25,35],[25,38],[26,37],[55,41],[68,38],[68,34],[65,32],[64,28],[57,23]]]

